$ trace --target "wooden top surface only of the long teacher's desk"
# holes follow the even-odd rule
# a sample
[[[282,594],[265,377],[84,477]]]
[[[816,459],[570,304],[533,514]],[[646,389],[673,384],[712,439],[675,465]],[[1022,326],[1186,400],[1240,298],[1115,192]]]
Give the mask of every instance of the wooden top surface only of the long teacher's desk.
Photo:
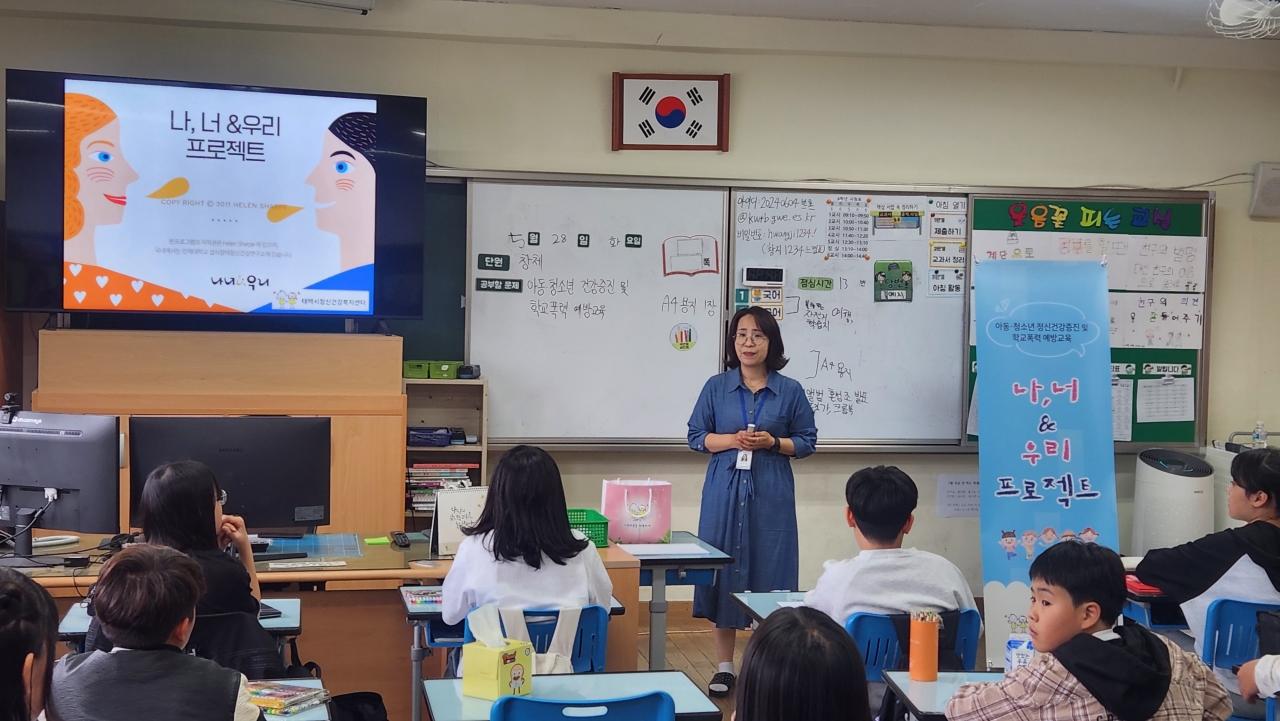
[[[440,580],[453,566],[452,558],[438,558],[426,549],[425,544],[413,544],[406,549],[394,546],[369,546],[365,538],[385,535],[383,533],[356,534],[361,538],[360,546],[362,556],[344,558],[306,558],[307,561],[346,561],[347,565],[332,569],[288,569],[271,571],[268,563],[257,563],[257,579],[260,583],[316,583],[316,581],[401,581],[401,580]],[[64,546],[49,549],[46,553],[52,557],[68,556],[72,553],[90,552],[97,547],[105,535],[82,535],[77,546]],[[598,548],[604,567],[613,569],[639,569],[640,561],[635,556],[609,544],[608,548]],[[297,561],[303,561],[298,558]],[[435,566],[417,566],[413,561],[430,561]],[[49,569],[27,569],[26,571],[47,589],[84,589],[97,580],[97,570],[101,566],[95,563],[87,569],[67,569],[63,566]]]

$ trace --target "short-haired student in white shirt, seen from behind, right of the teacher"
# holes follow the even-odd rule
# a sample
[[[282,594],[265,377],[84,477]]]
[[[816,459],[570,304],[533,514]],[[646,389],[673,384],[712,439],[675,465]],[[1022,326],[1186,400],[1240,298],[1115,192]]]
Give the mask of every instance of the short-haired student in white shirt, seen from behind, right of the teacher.
[[[969,581],[942,556],[902,548],[915,524],[919,492],[895,466],[863,469],[845,484],[845,519],[858,539],[858,556],[827,561],[805,594],[805,606],[841,626],[854,613],[910,613],[977,608]]]

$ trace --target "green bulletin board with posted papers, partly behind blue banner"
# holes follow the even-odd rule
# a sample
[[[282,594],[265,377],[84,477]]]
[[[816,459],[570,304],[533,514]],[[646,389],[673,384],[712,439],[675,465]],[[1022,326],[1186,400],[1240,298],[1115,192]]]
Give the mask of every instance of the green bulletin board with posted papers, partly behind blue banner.
[[[973,227],[979,263],[1106,256],[1115,441],[1196,442],[1210,252],[1203,204],[975,198]],[[970,406],[970,434],[977,416]]]

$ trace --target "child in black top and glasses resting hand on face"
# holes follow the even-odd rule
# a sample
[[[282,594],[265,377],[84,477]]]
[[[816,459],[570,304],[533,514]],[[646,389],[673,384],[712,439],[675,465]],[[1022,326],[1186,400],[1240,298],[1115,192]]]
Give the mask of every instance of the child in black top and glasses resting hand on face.
[[[164,464],[151,471],[142,487],[142,534],[147,543],[168,546],[200,563],[207,590],[197,615],[232,613],[257,616],[257,572],[244,519],[223,514],[227,493],[214,471],[198,461]],[[239,560],[227,553],[234,544]]]

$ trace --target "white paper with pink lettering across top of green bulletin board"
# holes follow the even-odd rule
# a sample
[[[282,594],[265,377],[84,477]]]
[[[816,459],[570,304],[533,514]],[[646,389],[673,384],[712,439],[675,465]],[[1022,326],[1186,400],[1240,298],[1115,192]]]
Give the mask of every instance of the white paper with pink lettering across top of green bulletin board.
[[[974,231],[980,260],[1091,260],[1106,256],[1112,291],[1203,293],[1207,238]]]

